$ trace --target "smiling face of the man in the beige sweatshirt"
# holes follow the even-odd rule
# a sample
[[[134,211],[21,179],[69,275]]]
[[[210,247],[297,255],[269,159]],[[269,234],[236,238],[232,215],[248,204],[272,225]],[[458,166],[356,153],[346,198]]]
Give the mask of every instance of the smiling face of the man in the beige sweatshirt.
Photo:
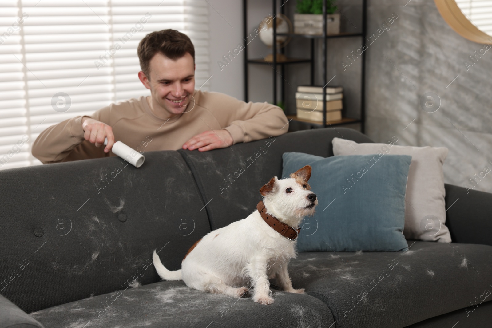
[[[170,114],[181,114],[195,90],[195,65],[193,57],[186,53],[182,58],[171,60],[161,53],[149,62],[149,77],[140,71],[138,77],[151,90],[153,103]],[[158,111],[154,108],[154,111]],[[158,113],[156,113],[158,115]]]

